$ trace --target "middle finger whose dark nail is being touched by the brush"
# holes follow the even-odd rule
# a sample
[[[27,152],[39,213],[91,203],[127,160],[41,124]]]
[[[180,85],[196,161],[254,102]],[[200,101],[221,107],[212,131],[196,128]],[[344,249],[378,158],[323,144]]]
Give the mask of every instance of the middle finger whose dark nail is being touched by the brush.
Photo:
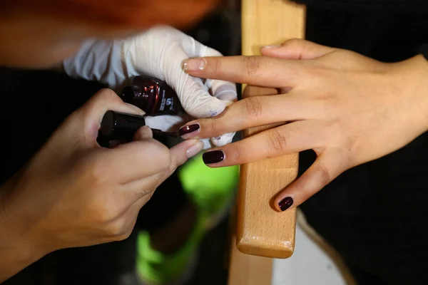
[[[305,105],[299,96],[256,96],[245,98],[228,106],[216,118],[193,120],[180,128],[183,139],[212,138],[225,133],[272,123],[310,118],[311,105]]]

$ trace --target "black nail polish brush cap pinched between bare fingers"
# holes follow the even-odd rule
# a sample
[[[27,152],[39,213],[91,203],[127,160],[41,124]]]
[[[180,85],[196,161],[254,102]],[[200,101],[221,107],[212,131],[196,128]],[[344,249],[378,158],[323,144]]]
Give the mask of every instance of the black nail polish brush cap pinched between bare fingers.
[[[131,115],[109,110],[101,121],[100,133],[107,140],[131,141],[136,131],[146,125],[141,115]]]

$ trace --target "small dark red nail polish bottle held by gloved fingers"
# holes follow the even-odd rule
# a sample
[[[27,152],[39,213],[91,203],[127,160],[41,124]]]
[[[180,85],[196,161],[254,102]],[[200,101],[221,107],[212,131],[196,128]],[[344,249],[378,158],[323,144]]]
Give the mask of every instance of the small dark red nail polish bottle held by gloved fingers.
[[[148,76],[136,76],[122,90],[124,102],[136,105],[147,115],[177,115],[182,110],[180,100],[164,81]]]

